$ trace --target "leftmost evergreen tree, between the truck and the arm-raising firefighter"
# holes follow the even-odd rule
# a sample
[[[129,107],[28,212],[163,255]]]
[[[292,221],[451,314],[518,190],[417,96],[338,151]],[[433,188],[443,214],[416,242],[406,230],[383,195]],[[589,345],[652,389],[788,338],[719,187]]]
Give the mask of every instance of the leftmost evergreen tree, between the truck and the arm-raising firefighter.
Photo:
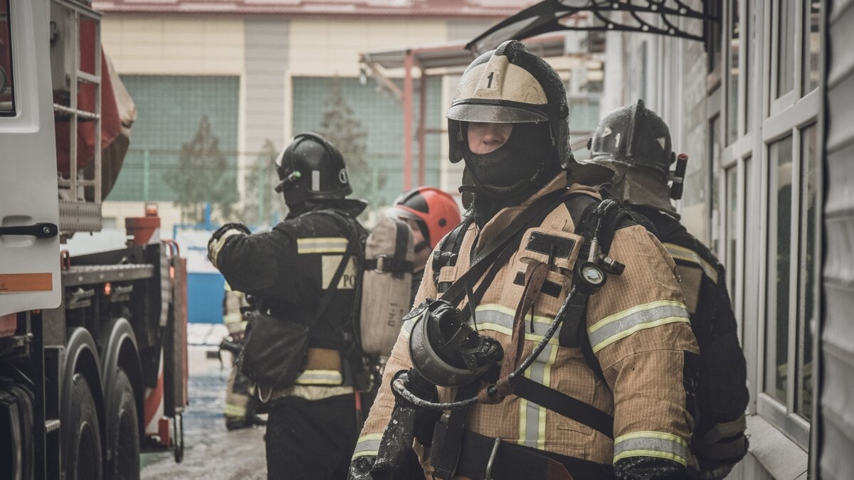
[[[223,220],[231,218],[238,199],[235,178],[234,168],[219,151],[219,138],[211,131],[208,116],[203,115],[193,139],[181,146],[178,164],[163,181],[177,195],[181,220],[201,223],[206,202],[219,210]]]

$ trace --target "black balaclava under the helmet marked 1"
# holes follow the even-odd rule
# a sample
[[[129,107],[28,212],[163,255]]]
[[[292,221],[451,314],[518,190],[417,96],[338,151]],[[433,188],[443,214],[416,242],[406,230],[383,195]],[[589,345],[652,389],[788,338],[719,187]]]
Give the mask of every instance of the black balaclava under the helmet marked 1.
[[[513,124],[506,143],[483,155],[469,149],[468,123],[461,122],[461,128],[465,166],[474,184],[460,191],[474,193],[472,208],[480,226],[501,208],[524,202],[560,172],[546,122]]]

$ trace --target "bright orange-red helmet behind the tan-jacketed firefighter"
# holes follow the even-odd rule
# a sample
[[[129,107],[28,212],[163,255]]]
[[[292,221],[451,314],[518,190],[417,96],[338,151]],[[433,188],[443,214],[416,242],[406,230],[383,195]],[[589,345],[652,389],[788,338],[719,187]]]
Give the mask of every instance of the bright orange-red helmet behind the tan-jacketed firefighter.
[[[424,239],[435,249],[436,243],[459,224],[459,207],[453,197],[433,187],[418,187],[403,192],[387,214],[417,220]]]

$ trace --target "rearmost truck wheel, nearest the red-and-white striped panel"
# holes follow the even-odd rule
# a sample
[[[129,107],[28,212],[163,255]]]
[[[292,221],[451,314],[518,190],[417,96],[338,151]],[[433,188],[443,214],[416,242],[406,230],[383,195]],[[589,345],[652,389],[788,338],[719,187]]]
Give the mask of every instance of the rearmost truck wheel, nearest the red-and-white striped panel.
[[[139,423],[137,419],[137,401],[133,395],[131,379],[124,370],[119,369],[114,384],[109,387],[112,394],[119,399],[112,411],[108,411],[108,427],[113,431],[113,461],[104,477],[111,480],[139,480]]]

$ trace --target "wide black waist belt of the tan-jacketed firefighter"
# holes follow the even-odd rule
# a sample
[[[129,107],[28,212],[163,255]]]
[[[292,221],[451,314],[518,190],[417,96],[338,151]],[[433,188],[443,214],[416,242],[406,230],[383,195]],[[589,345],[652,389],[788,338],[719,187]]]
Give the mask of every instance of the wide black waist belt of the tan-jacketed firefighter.
[[[465,431],[454,476],[489,480],[611,480],[611,465],[502,442]]]

